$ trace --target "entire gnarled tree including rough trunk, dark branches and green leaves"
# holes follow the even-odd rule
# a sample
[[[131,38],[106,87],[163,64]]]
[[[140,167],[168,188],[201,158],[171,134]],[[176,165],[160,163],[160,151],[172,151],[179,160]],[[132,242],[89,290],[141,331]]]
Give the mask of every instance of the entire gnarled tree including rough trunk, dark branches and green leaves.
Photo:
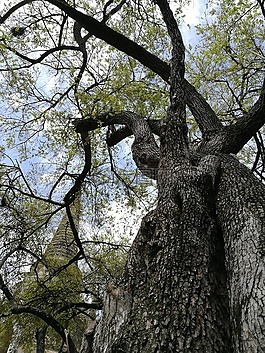
[[[179,13],[183,4],[173,5]],[[2,204],[12,221],[3,222],[3,271],[14,267],[21,247],[33,258],[44,251],[38,230],[52,226],[59,210],[66,209],[71,223],[69,207],[81,185],[89,195],[85,217],[101,235],[103,206],[117,203],[114,188],[124,189],[118,198],[128,206],[143,200],[150,186],[135,183],[125,138],[134,136],[133,160],[157,182],[155,208],[142,220],[122,275],[94,272],[89,254],[102,239],[76,233],[88,267],[83,277],[93,279],[84,285],[87,299],[102,297],[97,279],[115,284],[107,288],[95,333],[89,327],[85,334],[83,352],[264,350],[265,191],[231,155],[254,136],[253,170],[263,177],[264,12],[263,1],[211,6],[212,17],[199,27],[209,50],[198,47],[195,55],[190,48],[186,67],[166,0],[26,0],[3,13],[4,147],[9,153],[18,145],[20,157],[35,163],[30,171],[24,164],[25,175],[4,157]],[[12,284],[21,270],[12,281],[1,277],[4,315],[10,307],[18,313]],[[32,308],[29,313],[45,321]]]

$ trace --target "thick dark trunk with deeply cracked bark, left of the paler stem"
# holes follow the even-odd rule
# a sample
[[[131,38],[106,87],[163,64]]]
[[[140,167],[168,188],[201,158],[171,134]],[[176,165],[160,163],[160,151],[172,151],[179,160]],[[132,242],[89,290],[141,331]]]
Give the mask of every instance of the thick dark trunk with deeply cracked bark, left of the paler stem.
[[[175,190],[144,218],[124,283],[106,295],[94,352],[233,351],[217,169],[208,157],[170,175]]]

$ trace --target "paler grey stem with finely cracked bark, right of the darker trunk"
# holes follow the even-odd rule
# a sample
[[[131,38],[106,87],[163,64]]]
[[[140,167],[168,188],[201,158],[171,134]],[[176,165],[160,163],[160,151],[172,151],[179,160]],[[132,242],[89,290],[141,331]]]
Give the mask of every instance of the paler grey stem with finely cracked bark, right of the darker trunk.
[[[234,352],[265,351],[265,188],[223,156],[216,208],[225,244]]]

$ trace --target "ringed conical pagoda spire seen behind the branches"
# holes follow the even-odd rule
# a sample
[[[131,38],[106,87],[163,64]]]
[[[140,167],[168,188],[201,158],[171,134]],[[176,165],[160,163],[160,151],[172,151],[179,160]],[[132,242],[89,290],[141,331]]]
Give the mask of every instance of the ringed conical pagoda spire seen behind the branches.
[[[76,194],[74,202],[70,205],[71,217],[75,228],[79,227],[80,219],[80,199],[81,192]],[[43,256],[42,262],[36,262],[32,265],[29,273],[25,274],[25,278],[21,290],[22,300],[28,300],[31,295],[31,301],[34,301],[36,293],[35,306],[41,310],[51,310],[56,308],[56,305],[63,305],[68,301],[80,300],[80,286],[82,274],[78,268],[77,262],[69,264],[78,253],[78,247],[74,238],[74,232],[71,227],[69,217],[66,210],[64,215],[49,243]],[[60,271],[60,269],[63,269]],[[58,273],[57,273],[57,270]],[[43,286],[44,284],[44,286]],[[38,301],[41,293],[50,295],[49,303]],[[54,303],[53,303],[53,300]],[[45,307],[47,306],[47,308]],[[56,311],[56,310],[55,310]],[[51,311],[53,315],[53,312]],[[44,334],[43,334],[44,332]],[[45,346],[46,326],[36,327],[37,350],[42,351],[39,347]],[[7,353],[23,352],[21,345],[21,337],[23,336],[23,325],[18,319],[14,320],[13,334],[9,342]],[[43,348],[44,349],[44,348]],[[42,351],[44,353],[44,350]]]

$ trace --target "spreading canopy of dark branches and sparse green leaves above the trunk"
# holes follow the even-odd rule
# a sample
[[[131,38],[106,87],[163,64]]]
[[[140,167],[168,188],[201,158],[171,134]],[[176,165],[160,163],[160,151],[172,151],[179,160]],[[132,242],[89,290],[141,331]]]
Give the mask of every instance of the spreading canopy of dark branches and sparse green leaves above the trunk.
[[[123,277],[142,214],[166,199],[175,183],[175,177],[169,182],[168,175],[161,176],[165,171],[175,173],[176,165],[202,170],[201,156],[238,154],[264,180],[264,1],[204,1],[198,23],[187,27],[188,5],[192,2],[5,3],[3,351],[22,326],[24,349],[32,349],[36,330],[53,348],[61,340],[71,344],[66,330],[81,345],[86,326],[102,309],[107,283],[116,285]],[[185,48],[187,31],[196,31],[197,39]],[[205,188],[209,180],[203,173],[198,178]],[[71,207],[80,190],[78,226]],[[182,199],[184,191],[178,192]],[[174,202],[182,208],[179,196]],[[66,263],[45,258],[64,214],[77,248]],[[42,266],[48,269],[44,279]]]

